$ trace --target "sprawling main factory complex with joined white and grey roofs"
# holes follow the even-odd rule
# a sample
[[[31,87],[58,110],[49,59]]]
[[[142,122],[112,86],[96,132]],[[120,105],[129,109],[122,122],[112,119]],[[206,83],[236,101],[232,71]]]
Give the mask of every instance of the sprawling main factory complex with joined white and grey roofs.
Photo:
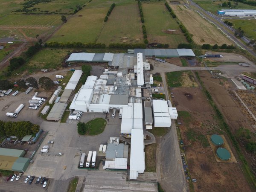
[[[164,57],[193,55],[190,51],[177,49],[139,49],[146,54],[159,54]],[[168,51],[169,50],[169,51]],[[111,68],[105,68],[99,76],[88,76],[73,98],[70,111],[110,113],[121,118],[122,136],[131,138],[130,173],[129,178],[136,180],[139,173],[145,170],[144,139],[145,126],[152,128],[171,126],[171,119],[177,119],[176,108],[169,107],[167,101],[153,100],[151,84],[153,76],[145,55],[134,49],[134,54],[71,55],[67,61],[108,61]],[[156,55],[159,56],[157,53]],[[179,55],[180,54],[180,55]],[[153,104],[153,112],[152,112]],[[144,110],[143,110],[144,105]],[[122,115],[120,113],[122,109]],[[114,112],[115,111],[115,112]],[[143,113],[144,112],[144,113]],[[112,115],[113,114],[113,115]],[[118,114],[118,115],[117,115]],[[153,118],[154,115],[154,118]],[[145,117],[145,123],[143,122]],[[127,155],[126,155],[127,153]],[[125,145],[108,144],[104,169],[127,169],[128,148]]]

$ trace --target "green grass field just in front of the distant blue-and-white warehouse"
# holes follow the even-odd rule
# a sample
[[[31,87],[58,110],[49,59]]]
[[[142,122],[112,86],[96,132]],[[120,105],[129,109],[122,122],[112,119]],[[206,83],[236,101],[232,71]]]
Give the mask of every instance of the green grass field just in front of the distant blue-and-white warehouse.
[[[239,27],[241,27],[241,29],[244,31],[245,35],[248,38],[256,39],[256,20],[255,19],[251,19],[251,20],[229,19],[228,21],[233,23],[233,27],[235,29],[238,29]]]

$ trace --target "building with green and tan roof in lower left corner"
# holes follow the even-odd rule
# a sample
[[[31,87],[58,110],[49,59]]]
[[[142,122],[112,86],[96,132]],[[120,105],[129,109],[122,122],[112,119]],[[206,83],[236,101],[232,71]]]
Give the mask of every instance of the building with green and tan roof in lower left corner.
[[[25,172],[29,166],[29,158],[24,158],[25,151],[0,148],[0,169]]]

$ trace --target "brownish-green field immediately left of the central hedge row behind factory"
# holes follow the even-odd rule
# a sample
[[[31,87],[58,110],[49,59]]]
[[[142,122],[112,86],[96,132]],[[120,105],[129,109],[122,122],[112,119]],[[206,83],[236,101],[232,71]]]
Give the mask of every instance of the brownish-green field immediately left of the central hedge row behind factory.
[[[97,43],[104,43],[107,46],[110,43],[132,44],[142,42],[142,23],[140,22],[137,4],[116,6],[97,39]]]

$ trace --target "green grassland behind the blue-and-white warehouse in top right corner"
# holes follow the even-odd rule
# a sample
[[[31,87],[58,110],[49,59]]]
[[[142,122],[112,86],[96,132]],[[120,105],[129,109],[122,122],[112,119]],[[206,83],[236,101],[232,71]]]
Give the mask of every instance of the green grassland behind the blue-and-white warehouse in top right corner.
[[[227,2],[227,1],[226,1]],[[212,0],[195,0],[195,3],[198,3],[206,11],[212,12],[217,15],[218,10],[229,9],[228,7],[221,7],[219,4],[224,3],[224,1],[212,1]],[[230,1],[232,9],[255,9],[254,6],[246,5],[244,3],[238,2],[238,6],[235,6],[234,1]]]

